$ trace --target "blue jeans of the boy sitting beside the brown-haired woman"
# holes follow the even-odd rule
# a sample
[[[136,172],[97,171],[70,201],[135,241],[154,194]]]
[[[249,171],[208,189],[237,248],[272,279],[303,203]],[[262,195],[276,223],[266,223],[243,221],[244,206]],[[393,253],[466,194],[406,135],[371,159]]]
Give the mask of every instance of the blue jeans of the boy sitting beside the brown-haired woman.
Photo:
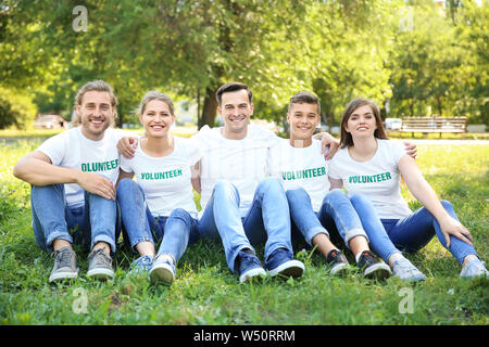
[[[286,195],[292,221],[309,244],[318,233],[329,237],[328,230],[337,230],[347,247],[350,247],[349,241],[359,235],[368,241],[359,215],[343,190],[335,189],[327,193],[317,213],[314,213],[311,197],[303,188],[288,190]]]

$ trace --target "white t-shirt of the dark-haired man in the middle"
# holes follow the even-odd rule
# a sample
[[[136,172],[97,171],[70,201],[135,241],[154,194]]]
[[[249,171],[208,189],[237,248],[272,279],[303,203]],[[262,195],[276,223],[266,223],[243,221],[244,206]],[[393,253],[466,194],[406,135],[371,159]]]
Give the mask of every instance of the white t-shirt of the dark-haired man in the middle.
[[[221,128],[211,129],[205,126],[191,139],[203,151],[200,163],[200,216],[205,210],[214,185],[221,180],[229,181],[238,189],[239,208],[244,217],[259,182],[268,176],[278,178],[276,151],[279,138],[268,129],[249,125],[244,139],[229,140],[223,137]]]

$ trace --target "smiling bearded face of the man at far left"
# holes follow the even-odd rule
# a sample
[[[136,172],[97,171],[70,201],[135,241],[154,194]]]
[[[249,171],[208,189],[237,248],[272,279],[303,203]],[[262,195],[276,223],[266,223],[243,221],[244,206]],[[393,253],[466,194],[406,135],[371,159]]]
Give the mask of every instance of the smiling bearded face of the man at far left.
[[[106,91],[87,91],[76,111],[82,124],[82,132],[87,139],[99,141],[114,120],[115,107]]]

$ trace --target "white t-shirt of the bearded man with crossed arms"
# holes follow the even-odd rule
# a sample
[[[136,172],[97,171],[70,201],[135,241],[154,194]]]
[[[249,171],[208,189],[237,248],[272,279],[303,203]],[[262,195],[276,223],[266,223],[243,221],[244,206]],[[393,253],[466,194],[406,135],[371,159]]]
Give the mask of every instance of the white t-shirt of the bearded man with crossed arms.
[[[116,144],[123,136],[121,129],[108,128],[102,140],[92,141],[83,134],[80,127],[76,127],[46,140],[38,151],[49,156],[52,165],[95,172],[115,185],[120,166]],[[70,207],[85,204],[85,193],[78,184],[64,184],[64,193]]]

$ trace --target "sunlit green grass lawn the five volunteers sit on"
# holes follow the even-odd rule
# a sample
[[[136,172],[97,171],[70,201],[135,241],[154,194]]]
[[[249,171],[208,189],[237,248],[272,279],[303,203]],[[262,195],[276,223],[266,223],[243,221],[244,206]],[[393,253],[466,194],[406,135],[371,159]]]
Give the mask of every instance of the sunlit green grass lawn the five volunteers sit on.
[[[200,241],[178,262],[171,287],[126,278],[137,257],[128,250],[116,253],[113,281],[91,281],[85,277],[87,250],[77,246],[80,277],[70,285],[50,285],[53,259],[34,240],[29,187],[12,176],[16,160],[40,141],[0,140],[1,324],[489,323],[489,281],[459,279],[459,264],[437,240],[408,256],[428,277],[417,284],[365,280],[355,271],[334,278],[322,256],[300,252],[301,246],[294,252],[306,264],[302,279],[239,284],[222,246]],[[489,145],[419,145],[417,163],[489,259]],[[411,208],[419,207],[405,189],[403,194]],[[258,250],[262,257],[263,247]]]

